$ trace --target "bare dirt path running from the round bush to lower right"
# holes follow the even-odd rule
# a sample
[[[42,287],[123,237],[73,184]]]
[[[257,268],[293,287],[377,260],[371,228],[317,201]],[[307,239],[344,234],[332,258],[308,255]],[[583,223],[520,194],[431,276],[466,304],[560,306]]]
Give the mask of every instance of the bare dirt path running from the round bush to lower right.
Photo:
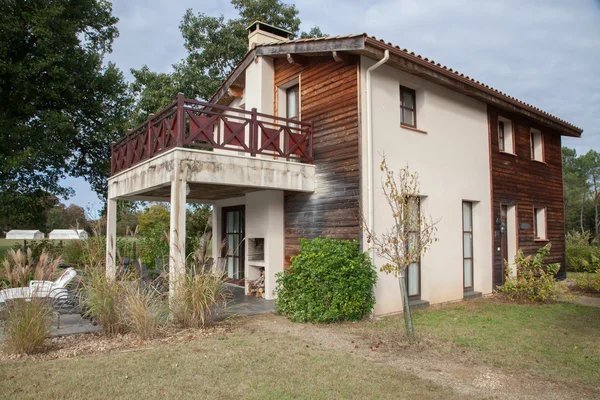
[[[586,399],[600,398],[600,392],[578,385],[558,384],[519,372],[510,373],[487,365],[455,361],[427,343],[415,346],[394,344],[362,335],[351,324],[343,327],[296,324],[287,318],[263,314],[253,317],[244,329],[259,333],[285,333],[331,350],[345,351],[368,362],[389,365],[419,378],[452,388],[464,395],[498,399]]]

